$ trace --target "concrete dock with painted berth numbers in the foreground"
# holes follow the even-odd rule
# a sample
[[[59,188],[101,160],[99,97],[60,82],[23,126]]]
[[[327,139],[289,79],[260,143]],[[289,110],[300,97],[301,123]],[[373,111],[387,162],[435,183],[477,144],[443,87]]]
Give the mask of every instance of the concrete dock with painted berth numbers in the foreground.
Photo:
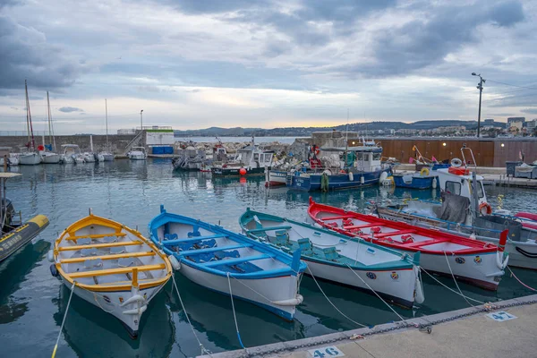
[[[535,303],[537,294],[493,303],[492,307],[480,305],[374,328],[354,329],[210,356],[534,358],[537,356]]]

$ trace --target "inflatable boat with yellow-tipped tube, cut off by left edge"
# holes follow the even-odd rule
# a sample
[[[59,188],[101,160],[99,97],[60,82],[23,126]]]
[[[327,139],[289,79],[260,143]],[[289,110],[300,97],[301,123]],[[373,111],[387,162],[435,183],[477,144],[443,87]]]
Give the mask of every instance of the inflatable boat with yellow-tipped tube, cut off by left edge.
[[[18,173],[0,173],[0,262],[7,259],[48,226],[48,218],[37,215],[22,222],[13,202],[7,199],[5,182],[21,176]]]

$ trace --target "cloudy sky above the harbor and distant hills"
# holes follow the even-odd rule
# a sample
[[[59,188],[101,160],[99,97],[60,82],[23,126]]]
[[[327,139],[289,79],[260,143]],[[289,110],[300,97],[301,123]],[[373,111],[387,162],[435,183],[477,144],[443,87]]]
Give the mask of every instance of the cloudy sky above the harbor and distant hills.
[[[537,2],[0,0],[0,130],[537,117]]]

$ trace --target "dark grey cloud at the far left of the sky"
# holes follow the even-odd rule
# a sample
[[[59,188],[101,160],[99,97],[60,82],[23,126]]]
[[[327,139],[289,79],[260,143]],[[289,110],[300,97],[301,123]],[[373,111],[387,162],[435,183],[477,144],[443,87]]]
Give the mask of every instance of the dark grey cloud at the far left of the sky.
[[[0,16],[0,88],[61,88],[72,85],[83,68],[47,43],[44,33]]]

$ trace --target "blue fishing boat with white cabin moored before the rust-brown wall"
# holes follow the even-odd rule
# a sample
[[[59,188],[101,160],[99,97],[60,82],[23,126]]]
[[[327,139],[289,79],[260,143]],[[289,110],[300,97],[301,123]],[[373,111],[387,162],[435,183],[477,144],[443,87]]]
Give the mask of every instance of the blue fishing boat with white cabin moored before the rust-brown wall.
[[[391,166],[382,164],[381,157],[382,148],[365,141],[356,147],[322,147],[320,162],[324,164],[312,172],[287,175],[286,186],[327,192],[378,184],[391,174]]]

